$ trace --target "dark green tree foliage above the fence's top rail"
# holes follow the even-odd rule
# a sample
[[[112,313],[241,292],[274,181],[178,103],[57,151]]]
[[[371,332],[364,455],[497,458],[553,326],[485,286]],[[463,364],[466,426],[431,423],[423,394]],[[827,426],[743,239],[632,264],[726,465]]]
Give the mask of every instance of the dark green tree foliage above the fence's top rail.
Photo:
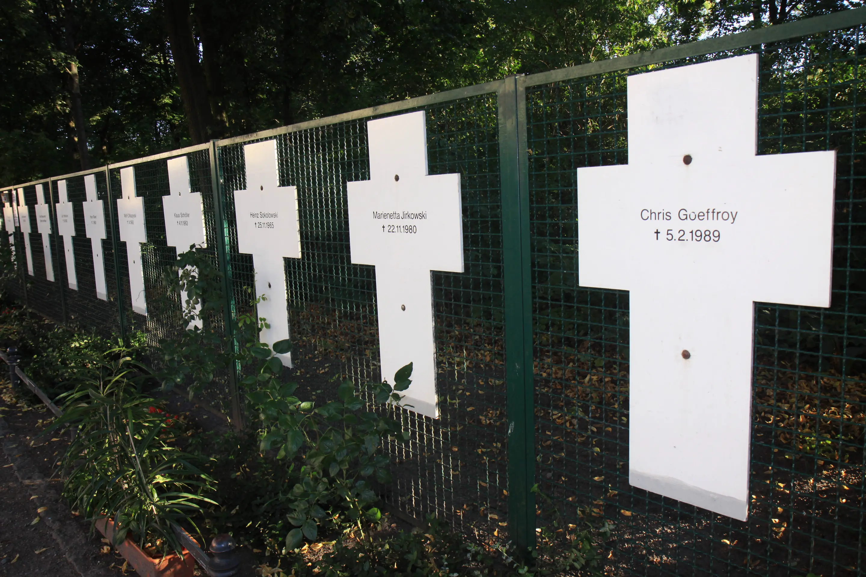
[[[0,182],[861,0],[8,0]]]

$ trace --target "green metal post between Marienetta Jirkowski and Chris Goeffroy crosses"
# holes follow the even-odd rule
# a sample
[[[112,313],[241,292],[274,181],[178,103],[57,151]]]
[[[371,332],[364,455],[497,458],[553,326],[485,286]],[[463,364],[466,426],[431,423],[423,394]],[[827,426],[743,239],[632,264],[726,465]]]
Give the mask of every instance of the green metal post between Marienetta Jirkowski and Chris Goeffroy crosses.
[[[521,165],[520,155],[521,150],[526,151],[525,103],[526,93],[517,77],[505,79],[498,93],[498,110],[508,399],[508,529],[519,555],[527,555],[535,545],[529,196],[527,170]]]

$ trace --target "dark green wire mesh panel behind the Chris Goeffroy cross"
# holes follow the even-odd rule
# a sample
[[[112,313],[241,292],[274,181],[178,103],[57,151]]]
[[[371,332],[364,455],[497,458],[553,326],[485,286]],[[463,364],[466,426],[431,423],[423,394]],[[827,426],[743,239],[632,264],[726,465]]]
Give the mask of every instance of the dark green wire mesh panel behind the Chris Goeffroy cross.
[[[863,29],[749,52],[759,154],[836,149],[837,210],[831,308],[755,305],[746,523],[629,485],[628,293],[578,288],[576,169],[628,162],[625,79],[648,68],[527,89],[536,475],[571,523],[578,508],[616,523],[611,574],[853,575],[864,561]]]

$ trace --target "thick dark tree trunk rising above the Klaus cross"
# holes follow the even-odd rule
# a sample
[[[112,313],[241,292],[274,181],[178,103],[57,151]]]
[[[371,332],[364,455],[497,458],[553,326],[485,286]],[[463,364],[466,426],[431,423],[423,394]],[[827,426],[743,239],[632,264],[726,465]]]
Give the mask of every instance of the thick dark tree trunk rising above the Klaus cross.
[[[214,124],[210,114],[207,85],[198,61],[198,49],[192,37],[189,0],[164,0],[165,29],[171,45],[171,59],[178,74],[180,98],[190,127],[193,144],[202,144],[210,138]]]

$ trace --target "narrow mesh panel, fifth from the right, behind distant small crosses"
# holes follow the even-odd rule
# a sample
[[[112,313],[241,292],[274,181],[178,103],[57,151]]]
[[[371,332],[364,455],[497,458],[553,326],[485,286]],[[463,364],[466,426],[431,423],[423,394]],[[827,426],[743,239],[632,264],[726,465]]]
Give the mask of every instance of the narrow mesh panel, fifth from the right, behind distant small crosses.
[[[45,202],[51,202],[51,192],[48,189],[48,183],[42,184],[42,189],[45,195]],[[30,251],[33,255],[33,274],[27,272],[27,259],[22,252],[24,272],[27,279],[27,299],[28,304],[36,311],[41,312],[46,317],[54,320],[57,323],[63,322],[63,305],[61,297],[61,287],[59,286],[59,269],[57,268],[57,251],[55,245],[54,234],[48,234],[48,247],[51,251],[50,260],[51,268],[54,271],[54,281],[48,280],[45,270],[45,251],[42,248],[42,234],[38,232],[36,224],[36,185],[31,184],[24,188],[24,202],[27,204],[27,209],[30,213]],[[20,209],[20,208],[19,208]],[[52,230],[54,230],[54,212],[49,211],[51,215]],[[23,248],[23,242],[22,242]]]

